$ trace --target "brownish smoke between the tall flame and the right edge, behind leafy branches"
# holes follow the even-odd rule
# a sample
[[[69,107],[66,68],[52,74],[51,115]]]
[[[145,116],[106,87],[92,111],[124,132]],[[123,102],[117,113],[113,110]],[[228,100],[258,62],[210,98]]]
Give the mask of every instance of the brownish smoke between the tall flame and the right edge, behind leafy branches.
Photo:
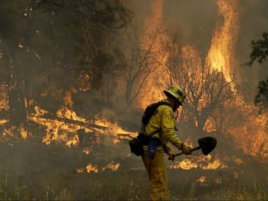
[[[265,80],[268,76],[267,64],[255,63],[252,67],[244,67],[239,64],[244,64],[249,59],[251,53],[251,40],[262,38],[262,32],[267,31],[267,1],[239,1],[241,8],[241,17],[239,20],[240,31],[237,40],[236,49],[236,68],[241,84],[246,84],[246,94],[251,96],[251,100],[257,92],[257,84],[260,80]],[[254,93],[255,92],[255,93]]]

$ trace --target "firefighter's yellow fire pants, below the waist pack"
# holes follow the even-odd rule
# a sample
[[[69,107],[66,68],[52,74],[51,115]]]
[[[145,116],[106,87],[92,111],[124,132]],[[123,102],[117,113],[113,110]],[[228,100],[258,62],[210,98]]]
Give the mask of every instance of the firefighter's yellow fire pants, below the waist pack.
[[[156,151],[154,159],[142,155],[142,161],[151,181],[151,200],[168,200],[168,177],[163,151]]]

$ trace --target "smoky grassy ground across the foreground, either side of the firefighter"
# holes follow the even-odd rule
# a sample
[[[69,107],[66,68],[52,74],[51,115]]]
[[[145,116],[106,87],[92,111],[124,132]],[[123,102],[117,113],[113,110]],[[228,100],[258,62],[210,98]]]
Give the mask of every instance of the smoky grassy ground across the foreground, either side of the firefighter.
[[[89,155],[82,153],[82,147],[44,145],[34,137],[13,145],[1,142],[0,199],[148,199],[149,180],[140,158],[128,156],[127,142],[114,145],[110,143],[112,139],[104,138],[104,143],[94,146]],[[111,161],[121,164],[119,170],[101,171]],[[243,161],[240,165],[227,161],[229,168],[217,170],[168,169],[171,199],[267,200],[267,165],[248,156]],[[77,168],[88,163],[98,165],[99,172],[77,173]],[[206,181],[198,182],[203,176]]]

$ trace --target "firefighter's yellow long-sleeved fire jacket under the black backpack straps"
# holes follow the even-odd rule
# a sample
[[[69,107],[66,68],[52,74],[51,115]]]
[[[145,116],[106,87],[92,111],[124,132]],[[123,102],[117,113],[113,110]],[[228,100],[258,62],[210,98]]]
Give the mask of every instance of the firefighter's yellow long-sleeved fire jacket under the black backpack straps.
[[[165,100],[168,103],[168,100]],[[158,146],[156,150],[165,150],[165,152],[172,152],[171,147],[168,146],[168,142],[177,147],[177,149],[182,148],[182,142],[179,140],[179,137],[174,132],[175,124],[174,124],[174,112],[172,107],[168,105],[160,105],[154,115],[151,117],[149,123],[144,128],[144,134],[150,135],[150,133],[154,133],[161,129],[158,133],[152,135],[152,137],[157,137],[161,140],[162,146]],[[144,150],[147,150],[147,146],[144,146]]]

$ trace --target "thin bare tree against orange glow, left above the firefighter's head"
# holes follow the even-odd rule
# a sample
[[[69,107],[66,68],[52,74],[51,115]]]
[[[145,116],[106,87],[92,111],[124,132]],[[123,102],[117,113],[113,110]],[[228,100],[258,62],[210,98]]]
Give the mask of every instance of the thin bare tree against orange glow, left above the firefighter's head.
[[[158,64],[156,64],[158,52],[156,50],[156,40],[154,40],[155,36],[150,36],[151,40],[147,40],[148,36],[146,34],[139,33],[133,27],[130,32],[130,34],[127,34],[126,61],[128,63],[124,73],[126,105],[131,105],[135,101],[142,91],[147,77],[158,67]]]

